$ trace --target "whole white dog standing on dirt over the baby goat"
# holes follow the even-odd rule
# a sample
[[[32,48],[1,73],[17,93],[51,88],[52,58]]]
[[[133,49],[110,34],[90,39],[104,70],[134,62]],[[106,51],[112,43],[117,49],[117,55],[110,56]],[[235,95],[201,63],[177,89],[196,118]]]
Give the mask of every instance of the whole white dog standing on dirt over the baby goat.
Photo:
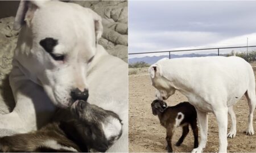
[[[163,59],[149,68],[156,96],[166,100],[175,91],[185,95],[195,106],[200,124],[201,142],[192,152],[202,152],[207,143],[207,113],[216,116],[219,131],[219,152],[226,152],[228,113],[232,128],[228,137],[236,135],[233,105],[245,95],[249,104],[247,135],[253,135],[253,112],[256,105],[255,78],[249,63],[240,57],[196,57]]]

